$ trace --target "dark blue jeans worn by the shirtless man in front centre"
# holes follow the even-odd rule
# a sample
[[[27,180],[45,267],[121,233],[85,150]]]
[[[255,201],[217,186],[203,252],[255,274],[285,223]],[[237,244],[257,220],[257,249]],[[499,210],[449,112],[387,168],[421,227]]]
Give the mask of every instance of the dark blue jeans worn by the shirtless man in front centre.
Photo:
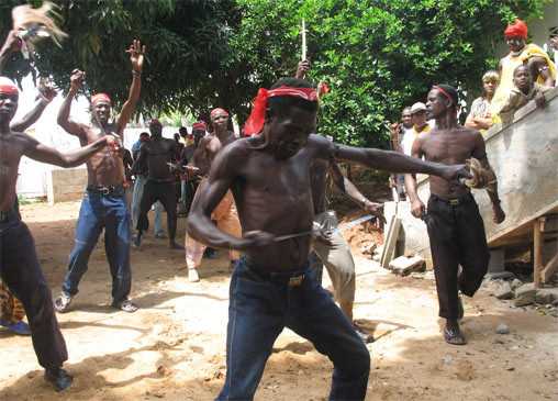
[[[231,278],[226,379],[217,401],[253,400],[283,327],[312,342],[334,365],[330,400],[364,400],[370,354],[310,268],[298,287],[264,278],[242,258]]]

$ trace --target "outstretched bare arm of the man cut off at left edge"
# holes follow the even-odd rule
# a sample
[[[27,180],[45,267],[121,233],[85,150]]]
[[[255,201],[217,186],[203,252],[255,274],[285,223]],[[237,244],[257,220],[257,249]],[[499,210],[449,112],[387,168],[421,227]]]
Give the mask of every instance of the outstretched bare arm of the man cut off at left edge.
[[[79,166],[104,146],[113,145],[114,138],[112,136],[103,136],[87,146],[65,153],[46,146],[31,136],[27,136],[27,142],[25,156],[37,161],[67,168]]]

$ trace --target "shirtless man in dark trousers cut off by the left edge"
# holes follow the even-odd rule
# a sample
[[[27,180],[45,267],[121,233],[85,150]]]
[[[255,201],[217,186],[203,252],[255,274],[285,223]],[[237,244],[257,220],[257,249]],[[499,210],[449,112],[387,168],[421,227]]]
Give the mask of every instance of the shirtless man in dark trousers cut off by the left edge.
[[[22,156],[62,167],[75,167],[94,153],[114,145],[110,136],[91,141],[78,151],[59,153],[31,136],[10,129],[18,109],[19,91],[8,78],[0,77],[0,276],[23,303],[31,327],[33,347],[45,368],[45,379],[57,391],[71,385],[63,368],[68,358],[66,343],[53,309],[51,290],[41,270],[35,244],[15,207],[15,183]]]

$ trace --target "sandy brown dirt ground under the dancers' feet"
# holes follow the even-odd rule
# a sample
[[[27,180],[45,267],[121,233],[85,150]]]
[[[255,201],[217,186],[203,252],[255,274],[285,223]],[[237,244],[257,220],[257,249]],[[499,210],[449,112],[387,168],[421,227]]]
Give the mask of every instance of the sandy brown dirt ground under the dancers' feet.
[[[72,245],[79,202],[25,205],[43,269],[58,293]],[[360,229],[361,230],[361,229]],[[183,240],[185,219],[179,222]],[[353,242],[360,245],[353,230]],[[373,332],[366,400],[558,400],[558,320],[512,309],[481,289],[466,300],[469,345],[439,334],[432,274],[395,277],[357,254],[355,316]],[[0,331],[0,400],[212,400],[225,374],[228,271],[225,253],[204,260],[190,283],[183,253],[146,236],[133,249],[135,314],[113,311],[102,242],[71,312],[58,315],[74,386],[56,394],[43,380],[31,339]],[[511,328],[495,334],[499,323]],[[286,330],[278,338],[256,400],[326,400],[332,364]]]

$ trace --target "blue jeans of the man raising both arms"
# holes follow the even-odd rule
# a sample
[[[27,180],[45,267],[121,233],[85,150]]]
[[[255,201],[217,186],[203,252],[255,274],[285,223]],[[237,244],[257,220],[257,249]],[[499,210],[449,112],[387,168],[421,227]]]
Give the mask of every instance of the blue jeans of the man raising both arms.
[[[130,213],[124,189],[111,194],[87,191],[79,210],[76,245],[69,256],[68,272],[62,286],[66,294],[78,293],[78,285],[87,271],[91,252],[104,227],[104,249],[112,276],[112,299],[127,299],[132,286],[130,268]]]

